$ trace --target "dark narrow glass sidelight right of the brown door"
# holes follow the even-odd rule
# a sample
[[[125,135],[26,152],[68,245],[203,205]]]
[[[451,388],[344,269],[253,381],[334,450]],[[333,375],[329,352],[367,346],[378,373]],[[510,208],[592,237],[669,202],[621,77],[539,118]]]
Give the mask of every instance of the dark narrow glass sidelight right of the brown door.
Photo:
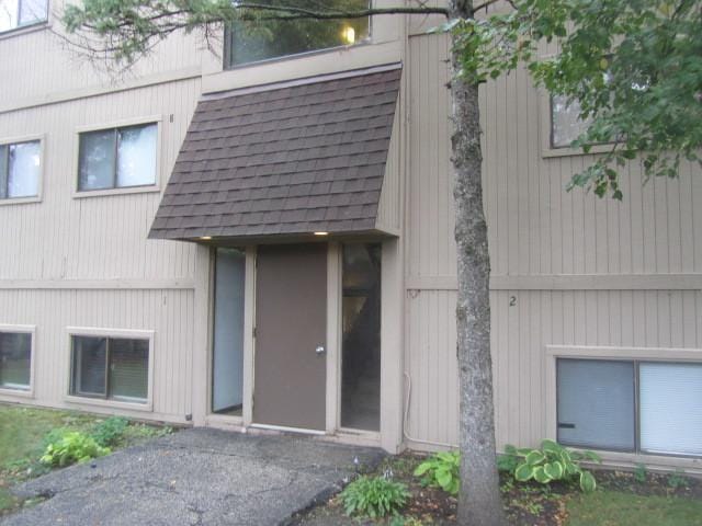
[[[380,431],[381,244],[342,251],[341,426]]]

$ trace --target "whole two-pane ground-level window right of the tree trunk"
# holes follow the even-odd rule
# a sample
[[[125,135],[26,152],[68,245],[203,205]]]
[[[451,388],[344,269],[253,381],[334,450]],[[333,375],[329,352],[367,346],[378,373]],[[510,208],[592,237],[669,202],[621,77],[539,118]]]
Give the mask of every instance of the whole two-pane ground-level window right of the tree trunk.
[[[702,456],[702,364],[558,358],[557,439],[567,446]]]

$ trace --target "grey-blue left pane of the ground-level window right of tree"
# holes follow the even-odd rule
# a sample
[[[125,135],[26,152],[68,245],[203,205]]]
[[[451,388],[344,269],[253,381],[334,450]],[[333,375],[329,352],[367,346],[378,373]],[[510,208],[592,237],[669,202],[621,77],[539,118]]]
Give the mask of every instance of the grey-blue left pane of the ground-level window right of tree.
[[[558,442],[634,450],[634,397],[632,362],[558,359]]]

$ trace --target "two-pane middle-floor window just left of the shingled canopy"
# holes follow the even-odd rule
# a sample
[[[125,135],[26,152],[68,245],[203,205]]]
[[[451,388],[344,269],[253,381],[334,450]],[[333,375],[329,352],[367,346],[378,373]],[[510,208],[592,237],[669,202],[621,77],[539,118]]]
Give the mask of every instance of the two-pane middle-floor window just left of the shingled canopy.
[[[156,123],[80,134],[78,191],[155,185],[157,147]]]

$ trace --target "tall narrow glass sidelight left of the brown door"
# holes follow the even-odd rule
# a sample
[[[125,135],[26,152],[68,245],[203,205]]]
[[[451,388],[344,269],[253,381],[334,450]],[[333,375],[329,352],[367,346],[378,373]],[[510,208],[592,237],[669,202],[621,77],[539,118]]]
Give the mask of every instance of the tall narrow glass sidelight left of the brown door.
[[[246,254],[217,248],[215,258],[212,412],[241,416]]]

